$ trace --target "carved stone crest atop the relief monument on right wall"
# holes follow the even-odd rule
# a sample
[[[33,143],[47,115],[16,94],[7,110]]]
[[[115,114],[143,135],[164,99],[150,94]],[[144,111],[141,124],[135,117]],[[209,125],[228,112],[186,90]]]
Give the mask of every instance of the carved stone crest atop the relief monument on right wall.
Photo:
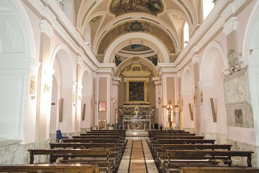
[[[225,71],[229,71],[229,74],[233,74],[235,72],[238,72],[241,70],[241,64],[242,61],[240,62],[238,57],[236,57],[235,50],[229,49],[227,53],[227,59],[228,59],[228,69]]]

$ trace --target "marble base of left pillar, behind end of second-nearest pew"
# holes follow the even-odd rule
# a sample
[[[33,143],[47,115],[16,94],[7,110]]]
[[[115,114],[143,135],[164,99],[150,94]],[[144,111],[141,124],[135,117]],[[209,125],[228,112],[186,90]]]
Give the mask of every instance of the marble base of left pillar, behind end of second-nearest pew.
[[[13,164],[29,164],[30,153],[28,149],[49,149],[51,138],[40,142],[31,142],[28,144],[18,144]],[[49,163],[49,155],[35,155],[34,163]]]

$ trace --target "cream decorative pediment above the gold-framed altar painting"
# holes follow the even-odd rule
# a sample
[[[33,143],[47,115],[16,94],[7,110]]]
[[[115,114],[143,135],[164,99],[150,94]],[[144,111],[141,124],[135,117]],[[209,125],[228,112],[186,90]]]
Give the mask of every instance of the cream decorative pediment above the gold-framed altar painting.
[[[132,64],[131,65],[131,70],[127,71],[125,69],[124,72],[122,72],[124,77],[149,77],[149,75],[151,74],[151,72],[148,71],[148,69],[146,69],[146,71],[143,71],[141,69],[140,64]]]

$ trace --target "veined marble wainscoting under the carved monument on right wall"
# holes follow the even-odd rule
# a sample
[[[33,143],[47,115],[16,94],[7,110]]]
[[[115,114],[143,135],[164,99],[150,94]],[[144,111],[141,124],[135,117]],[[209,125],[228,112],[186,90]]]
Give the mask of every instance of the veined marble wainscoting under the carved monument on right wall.
[[[233,145],[231,147],[231,150],[236,150],[236,151],[253,151],[254,153],[252,154],[252,167],[258,167],[258,151],[259,151],[259,146],[247,144],[244,142],[239,142],[235,141],[232,139],[227,139],[227,143]],[[247,166],[247,158],[246,157],[231,157],[232,158],[232,164],[243,164]]]

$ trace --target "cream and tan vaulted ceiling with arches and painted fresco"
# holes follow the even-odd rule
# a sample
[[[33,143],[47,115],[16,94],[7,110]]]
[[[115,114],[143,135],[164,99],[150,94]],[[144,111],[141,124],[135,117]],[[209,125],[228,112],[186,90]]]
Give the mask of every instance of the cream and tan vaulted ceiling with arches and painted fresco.
[[[78,0],[74,1],[73,24],[99,62],[104,62],[107,50],[114,56],[131,44],[145,45],[158,56],[165,54],[162,45],[168,57],[160,58],[160,62],[174,62],[184,48],[185,22],[191,37],[202,22],[201,9],[200,0]],[[134,34],[125,37],[129,33],[142,33],[143,38],[134,38]]]

